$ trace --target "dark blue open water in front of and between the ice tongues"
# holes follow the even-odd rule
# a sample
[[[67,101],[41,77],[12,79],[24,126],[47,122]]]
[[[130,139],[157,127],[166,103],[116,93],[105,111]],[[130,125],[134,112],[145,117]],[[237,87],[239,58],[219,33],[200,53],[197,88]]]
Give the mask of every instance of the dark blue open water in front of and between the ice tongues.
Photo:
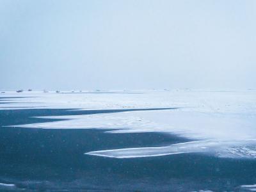
[[[240,185],[256,183],[256,162],[252,160],[204,154],[135,159],[84,155],[93,150],[188,141],[170,134],[3,127],[54,121],[31,116],[116,112],[122,110],[0,110],[0,183],[15,184],[0,185],[0,191],[240,191]]]

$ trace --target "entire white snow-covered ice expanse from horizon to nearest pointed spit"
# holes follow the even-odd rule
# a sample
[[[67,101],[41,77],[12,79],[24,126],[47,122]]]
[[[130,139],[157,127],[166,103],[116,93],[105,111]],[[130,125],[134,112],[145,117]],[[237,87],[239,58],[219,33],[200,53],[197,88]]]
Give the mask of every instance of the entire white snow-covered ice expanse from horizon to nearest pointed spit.
[[[126,132],[166,132],[195,140],[167,147],[128,148],[90,152],[107,157],[163,156],[184,152],[205,152],[219,157],[256,158],[255,90],[171,90],[113,92],[6,92],[1,109],[65,108],[158,109],[94,115],[47,116],[65,121],[17,125],[45,129],[115,129]],[[6,104],[3,104],[6,102]],[[42,117],[41,117],[42,118]]]

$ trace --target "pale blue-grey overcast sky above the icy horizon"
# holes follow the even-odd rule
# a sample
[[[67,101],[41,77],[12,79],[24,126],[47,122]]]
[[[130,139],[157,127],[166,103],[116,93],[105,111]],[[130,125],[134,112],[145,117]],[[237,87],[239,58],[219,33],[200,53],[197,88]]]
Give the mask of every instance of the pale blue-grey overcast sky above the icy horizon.
[[[256,1],[0,1],[0,89],[252,88]]]

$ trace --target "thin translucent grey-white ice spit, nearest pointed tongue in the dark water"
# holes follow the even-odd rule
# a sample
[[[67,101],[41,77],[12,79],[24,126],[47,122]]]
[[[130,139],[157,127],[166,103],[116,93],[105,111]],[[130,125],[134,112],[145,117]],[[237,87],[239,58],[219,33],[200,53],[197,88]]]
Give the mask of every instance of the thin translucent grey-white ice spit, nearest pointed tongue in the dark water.
[[[191,152],[204,152],[218,157],[233,158],[256,158],[256,148],[254,150],[241,145],[255,145],[256,140],[248,141],[191,141],[186,143],[173,144],[166,147],[140,147],[140,148],[122,148],[115,150],[99,150],[88,152],[86,154],[93,156],[132,158],[132,157],[151,157],[166,156],[172,154],[185,154]],[[238,148],[237,148],[238,147]],[[236,153],[230,153],[230,150]]]

